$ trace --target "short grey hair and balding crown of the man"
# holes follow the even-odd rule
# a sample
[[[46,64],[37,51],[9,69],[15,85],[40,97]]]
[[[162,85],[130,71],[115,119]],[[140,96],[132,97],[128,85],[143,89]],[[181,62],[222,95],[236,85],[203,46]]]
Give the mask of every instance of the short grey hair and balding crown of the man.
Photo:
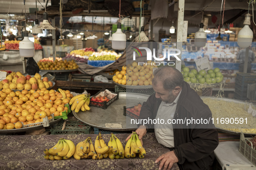
[[[172,90],[177,86],[182,87],[184,78],[178,69],[171,66],[163,66],[154,71],[152,84],[156,85],[158,82],[162,82],[166,90]]]

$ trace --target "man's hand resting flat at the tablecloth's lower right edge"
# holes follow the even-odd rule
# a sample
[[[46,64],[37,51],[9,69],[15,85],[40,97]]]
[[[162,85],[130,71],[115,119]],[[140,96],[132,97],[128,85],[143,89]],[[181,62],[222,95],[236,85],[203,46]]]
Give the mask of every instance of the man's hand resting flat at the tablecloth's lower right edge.
[[[163,170],[170,170],[172,168],[172,165],[178,162],[178,158],[174,154],[174,151],[169,151],[157,158],[155,163],[157,164],[159,161],[161,161],[159,165],[159,170],[161,170],[162,167]]]

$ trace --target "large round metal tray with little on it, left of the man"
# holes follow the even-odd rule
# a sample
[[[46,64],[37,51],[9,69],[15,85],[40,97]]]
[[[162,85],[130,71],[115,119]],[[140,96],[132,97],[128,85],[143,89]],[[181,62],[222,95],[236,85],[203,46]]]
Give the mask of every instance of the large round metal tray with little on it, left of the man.
[[[84,123],[90,126],[114,131],[135,130],[137,125],[130,124],[131,118],[129,116],[123,116],[123,106],[132,107],[138,103],[143,103],[148,99],[149,95],[137,94],[137,93],[119,93],[119,99],[113,101],[107,109],[101,109],[99,107],[91,107],[91,110],[78,113],[73,111],[74,116]],[[105,126],[105,123],[119,123],[122,128],[109,128]]]

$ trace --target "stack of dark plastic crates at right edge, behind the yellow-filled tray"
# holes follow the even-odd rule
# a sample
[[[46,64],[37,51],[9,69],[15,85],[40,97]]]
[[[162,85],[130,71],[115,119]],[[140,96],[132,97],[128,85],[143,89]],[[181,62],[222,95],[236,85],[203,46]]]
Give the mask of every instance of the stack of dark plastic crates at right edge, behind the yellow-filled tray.
[[[234,98],[242,101],[248,100],[247,86],[253,83],[256,83],[256,74],[241,72],[237,73]]]

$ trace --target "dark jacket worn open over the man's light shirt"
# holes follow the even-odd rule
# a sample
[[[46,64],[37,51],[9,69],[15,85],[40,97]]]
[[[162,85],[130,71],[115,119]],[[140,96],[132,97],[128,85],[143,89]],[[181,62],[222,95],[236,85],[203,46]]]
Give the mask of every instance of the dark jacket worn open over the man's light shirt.
[[[139,119],[155,119],[161,100],[152,94],[143,103]],[[209,107],[204,104],[198,94],[183,82],[182,91],[177,102],[174,119],[211,119]],[[167,120],[165,120],[166,123]],[[147,124],[148,129],[154,128]],[[173,124],[174,153],[178,157],[178,164],[184,170],[207,170],[212,168],[214,149],[218,145],[218,132],[211,123],[205,126],[198,124]]]

